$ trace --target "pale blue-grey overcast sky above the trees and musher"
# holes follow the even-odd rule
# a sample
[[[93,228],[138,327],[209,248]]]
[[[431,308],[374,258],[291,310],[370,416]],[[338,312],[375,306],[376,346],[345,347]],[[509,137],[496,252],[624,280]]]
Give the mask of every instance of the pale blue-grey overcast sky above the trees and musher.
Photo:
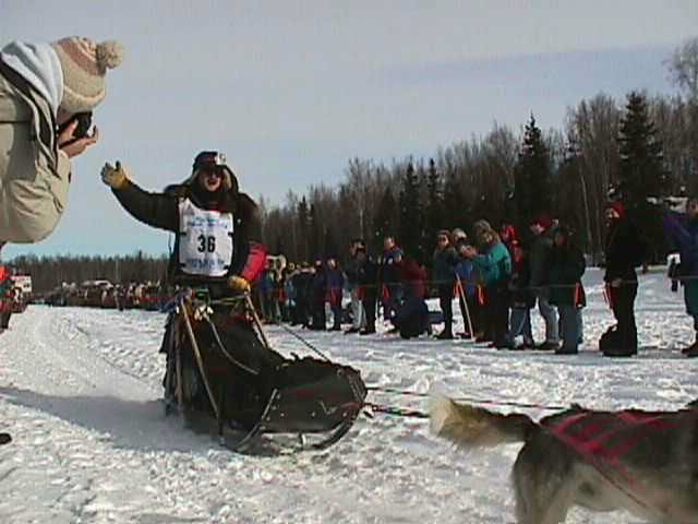
[[[662,61],[698,36],[698,1],[0,0],[0,35],[116,38],[127,51],[63,219],[3,259],[163,253],[169,236],[99,180],[106,160],[159,191],[217,148],[243,190],[280,204],[289,189],[337,184],[354,156],[428,157],[494,121],[518,131],[531,112],[562,128],[599,92],[673,93]]]

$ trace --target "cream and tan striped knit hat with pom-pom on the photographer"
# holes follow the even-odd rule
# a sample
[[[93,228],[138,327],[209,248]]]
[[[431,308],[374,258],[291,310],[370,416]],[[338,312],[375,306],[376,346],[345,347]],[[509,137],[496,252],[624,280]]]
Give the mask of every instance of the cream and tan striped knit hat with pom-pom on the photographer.
[[[60,108],[75,114],[91,111],[105,97],[107,69],[118,67],[123,47],[115,40],[97,44],[71,36],[51,44],[63,70],[63,98]]]

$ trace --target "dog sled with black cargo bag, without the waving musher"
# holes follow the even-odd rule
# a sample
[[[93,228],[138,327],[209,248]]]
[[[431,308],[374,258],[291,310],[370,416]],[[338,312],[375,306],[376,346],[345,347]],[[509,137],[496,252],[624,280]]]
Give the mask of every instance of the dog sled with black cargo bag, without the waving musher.
[[[212,300],[186,289],[167,310],[166,415],[214,420],[224,443],[229,431],[242,434],[234,451],[267,433],[294,433],[296,450],[322,450],[352,427],[366,396],[359,371],[272,349],[248,294]]]

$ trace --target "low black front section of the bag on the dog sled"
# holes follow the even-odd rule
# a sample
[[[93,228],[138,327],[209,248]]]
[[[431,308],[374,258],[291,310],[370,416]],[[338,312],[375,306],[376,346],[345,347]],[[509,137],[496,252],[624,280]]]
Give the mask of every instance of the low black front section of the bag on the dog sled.
[[[264,432],[313,433],[352,424],[366,396],[353,368],[305,357],[277,368],[262,416]]]

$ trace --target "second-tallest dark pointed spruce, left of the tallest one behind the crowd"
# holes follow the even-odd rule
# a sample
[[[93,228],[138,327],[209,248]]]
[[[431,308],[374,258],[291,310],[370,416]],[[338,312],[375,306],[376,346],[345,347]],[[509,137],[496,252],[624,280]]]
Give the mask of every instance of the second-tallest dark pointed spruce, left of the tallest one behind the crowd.
[[[531,115],[524,130],[524,143],[514,170],[516,209],[519,225],[552,210],[552,169],[550,152]]]

